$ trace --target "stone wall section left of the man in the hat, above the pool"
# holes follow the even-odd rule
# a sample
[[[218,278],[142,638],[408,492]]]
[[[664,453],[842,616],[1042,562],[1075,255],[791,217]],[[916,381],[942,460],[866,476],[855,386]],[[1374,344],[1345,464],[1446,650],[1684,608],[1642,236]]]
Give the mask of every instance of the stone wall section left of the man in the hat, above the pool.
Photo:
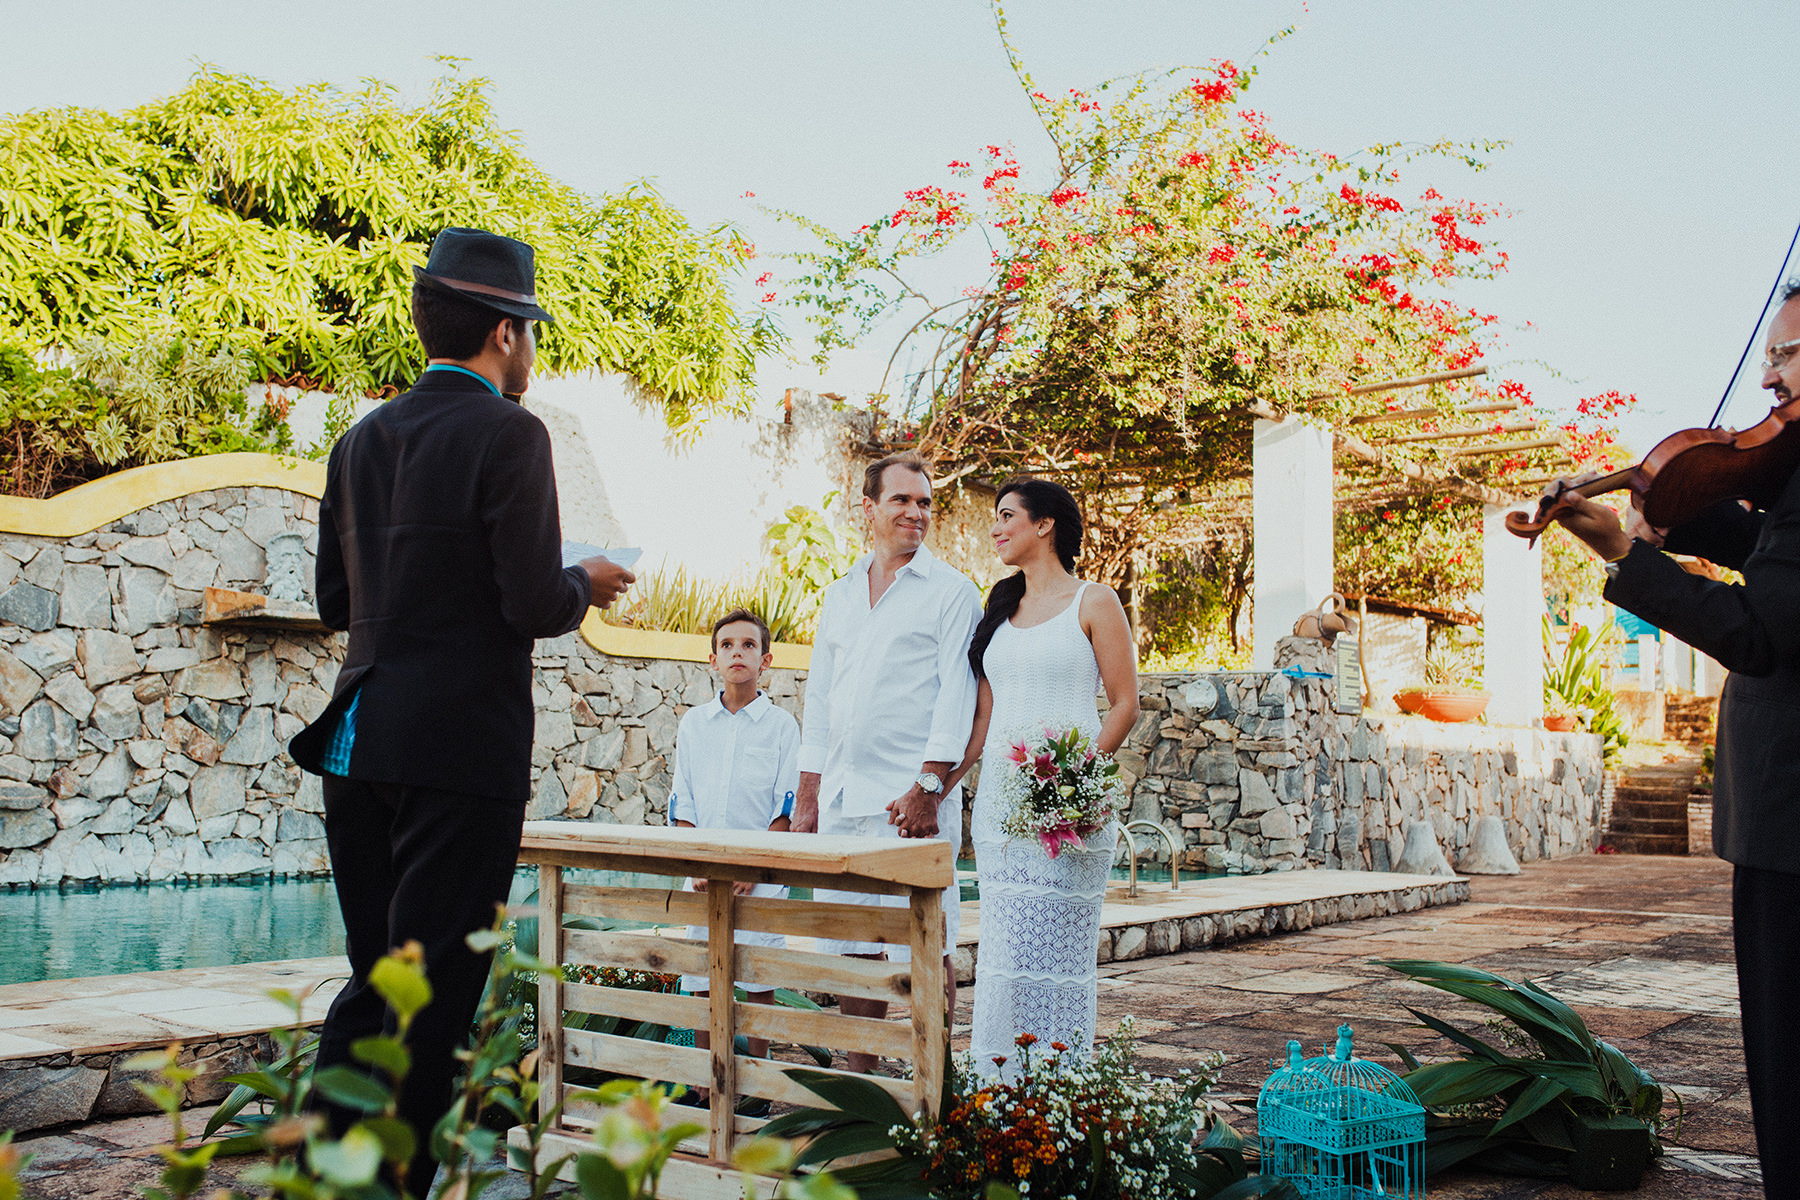
[[[200,624],[207,587],[261,588],[270,540],[311,556],[317,522],[308,497],[221,488],[0,540],[0,883],[326,869],[317,779],[281,747],[338,640]]]

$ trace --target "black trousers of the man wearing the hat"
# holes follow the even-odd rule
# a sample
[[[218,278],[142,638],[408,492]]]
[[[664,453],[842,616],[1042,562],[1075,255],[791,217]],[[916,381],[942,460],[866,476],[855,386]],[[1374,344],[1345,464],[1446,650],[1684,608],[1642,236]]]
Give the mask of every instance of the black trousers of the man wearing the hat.
[[[436,788],[324,777],[326,844],[344,914],[351,981],[331,1002],[319,1067],[349,1063],[356,1038],[391,1034],[392,1016],[369,986],[369,970],[389,950],[418,941],[432,1002],[412,1020],[412,1070],[400,1090],[400,1117],[418,1135],[407,1191],[427,1196],[436,1173],[432,1126],[450,1106],[470,1020],[481,1004],[491,955],[464,943],[493,925],[518,864],[524,802]],[[320,1105],[335,1132],[360,1114]]]

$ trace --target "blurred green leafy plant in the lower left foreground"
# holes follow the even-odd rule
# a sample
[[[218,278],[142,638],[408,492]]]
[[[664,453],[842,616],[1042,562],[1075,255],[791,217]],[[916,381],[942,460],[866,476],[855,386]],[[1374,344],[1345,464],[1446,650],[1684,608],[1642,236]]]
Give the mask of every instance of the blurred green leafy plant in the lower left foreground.
[[[547,1105],[538,1112],[538,1056],[536,1051],[524,1051],[524,1011],[517,1002],[522,991],[511,982],[526,973],[558,968],[518,954],[504,925],[472,934],[470,946],[497,952],[499,982],[482,1000],[470,1047],[459,1051],[464,1072],[455,1101],[432,1130],[419,1132],[432,1139],[432,1155],[445,1164],[443,1180],[432,1195],[441,1200],[475,1200],[504,1175],[497,1166],[504,1128],[495,1126],[517,1124],[524,1130],[524,1146],[513,1148],[509,1159],[524,1171],[531,1200],[542,1200],[565,1168],[572,1168],[583,1200],[655,1196],[657,1180],[677,1144],[702,1133],[704,1126],[684,1119],[691,1110],[670,1110],[664,1085],[616,1079],[596,1092],[576,1094],[601,1108],[592,1146],[540,1168],[545,1133],[558,1123],[562,1105]],[[205,1137],[211,1141],[189,1139],[182,1099],[196,1072],[180,1063],[178,1045],[133,1060],[133,1069],[157,1072],[139,1088],[157,1103],[171,1128],[169,1144],[158,1148],[164,1162],[160,1186],[146,1195],[151,1200],[187,1200],[207,1186],[207,1173],[216,1159],[257,1153],[265,1162],[241,1177],[256,1195],[281,1200],[394,1200],[396,1191],[387,1180],[403,1182],[416,1148],[416,1132],[394,1115],[394,1096],[410,1072],[405,1034],[414,1015],[430,1002],[430,982],[416,945],[382,959],[369,973],[369,982],[387,1000],[396,1033],[362,1038],[351,1047],[364,1070],[337,1065],[310,1072],[306,1058],[311,1045],[299,1027],[301,999],[277,993],[295,1015],[293,1027],[277,1034],[283,1058],[229,1079],[248,1096],[261,1096],[268,1112],[236,1117],[243,1132],[234,1135],[212,1139],[229,1121],[216,1119],[207,1126]],[[333,1137],[324,1119],[310,1112],[313,1097],[329,1099],[362,1117],[342,1137]],[[239,1101],[238,1112],[245,1103],[247,1099]],[[484,1121],[484,1114],[504,1114],[504,1121]],[[796,1175],[796,1146],[760,1137],[740,1148],[734,1164],[742,1171],[776,1178],[776,1196],[783,1200],[857,1200],[855,1193],[830,1175]],[[14,1177],[20,1166],[18,1151],[0,1135],[0,1200],[18,1200]],[[410,1182],[414,1191],[423,1193],[419,1180]],[[216,1200],[247,1200],[250,1193],[216,1189],[209,1195]]]

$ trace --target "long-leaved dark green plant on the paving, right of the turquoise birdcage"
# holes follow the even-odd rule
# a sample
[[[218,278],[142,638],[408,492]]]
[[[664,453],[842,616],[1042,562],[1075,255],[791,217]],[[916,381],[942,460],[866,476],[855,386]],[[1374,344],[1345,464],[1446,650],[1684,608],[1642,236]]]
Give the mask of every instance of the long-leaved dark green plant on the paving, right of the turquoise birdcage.
[[[1661,1087],[1618,1047],[1593,1036],[1575,1009],[1530,981],[1472,966],[1375,963],[1490,1009],[1532,1047],[1510,1054],[1408,1006],[1420,1024],[1463,1051],[1460,1060],[1420,1063],[1406,1047],[1390,1045],[1408,1067],[1406,1083],[1433,1114],[1426,1126],[1427,1173],[1472,1162],[1512,1175],[1564,1175],[1575,1153],[1573,1124],[1584,1117],[1636,1117],[1645,1123],[1651,1151],[1661,1153],[1649,1132],[1661,1117]]]

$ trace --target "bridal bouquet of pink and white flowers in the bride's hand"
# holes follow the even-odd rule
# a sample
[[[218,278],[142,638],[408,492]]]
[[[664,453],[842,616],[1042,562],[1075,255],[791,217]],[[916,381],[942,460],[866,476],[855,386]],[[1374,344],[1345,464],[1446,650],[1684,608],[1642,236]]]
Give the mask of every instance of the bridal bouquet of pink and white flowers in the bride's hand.
[[[1037,838],[1051,858],[1107,828],[1125,804],[1118,763],[1098,754],[1080,729],[1044,727],[1040,734],[1015,738],[1006,763],[1001,784],[1012,811],[1001,829]]]

